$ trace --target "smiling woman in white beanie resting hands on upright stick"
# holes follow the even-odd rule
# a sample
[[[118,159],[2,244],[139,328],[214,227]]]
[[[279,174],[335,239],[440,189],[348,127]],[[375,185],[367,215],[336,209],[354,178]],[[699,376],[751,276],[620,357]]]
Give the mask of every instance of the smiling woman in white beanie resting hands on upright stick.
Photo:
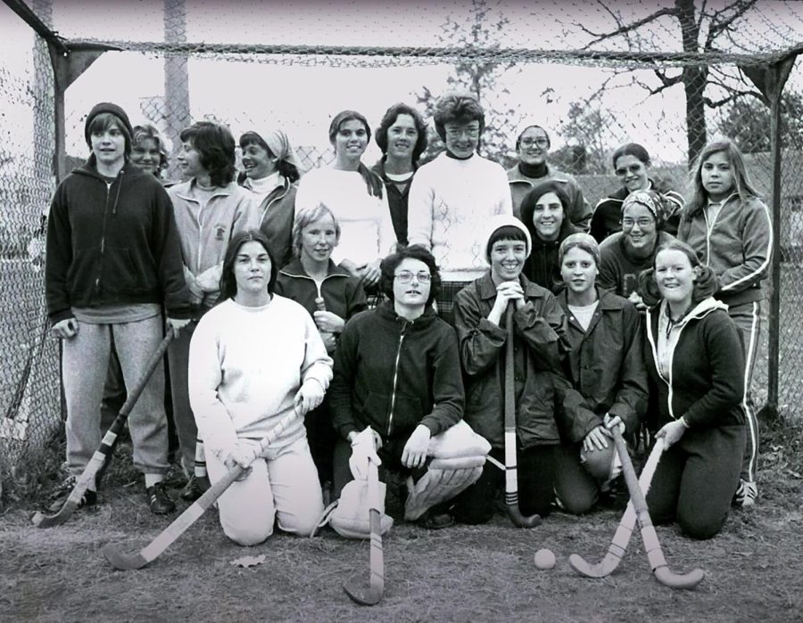
[[[560,373],[568,348],[566,318],[552,293],[522,274],[530,252],[530,234],[521,221],[510,215],[491,218],[484,242],[490,269],[459,291],[454,300],[468,397],[463,418],[490,442],[490,454],[497,463],[507,463],[504,386],[509,371],[505,352],[507,322],[512,323],[516,426],[512,443],[516,445],[519,508],[524,515],[545,517],[554,499],[559,420],[571,410],[564,410],[559,399],[563,385],[568,385]],[[509,307],[513,311],[507,321]],[[569,402],[579,404],[580,400]],[[489,521],[502,479],[502,471],[485,463],[480,479],[457,498],[454,518],[469,524]]]

